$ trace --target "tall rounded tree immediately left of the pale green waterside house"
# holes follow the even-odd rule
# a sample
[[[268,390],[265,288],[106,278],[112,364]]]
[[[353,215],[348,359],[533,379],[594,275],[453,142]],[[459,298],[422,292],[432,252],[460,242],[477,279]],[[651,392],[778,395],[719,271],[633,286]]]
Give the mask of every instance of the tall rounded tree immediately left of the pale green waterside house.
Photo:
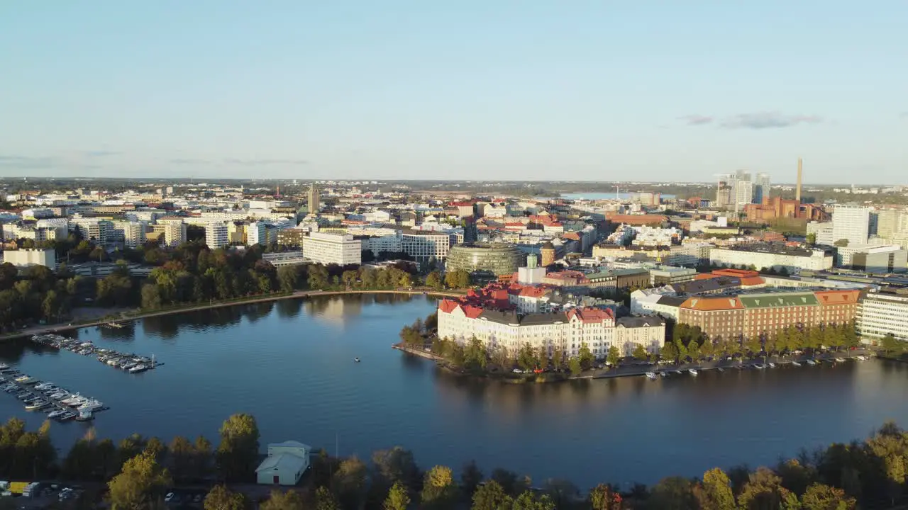
[[[221,426],[217,463],[226,480],[244,480],[255,472],[259,457],[259,426],[252,415],[238,414]]]

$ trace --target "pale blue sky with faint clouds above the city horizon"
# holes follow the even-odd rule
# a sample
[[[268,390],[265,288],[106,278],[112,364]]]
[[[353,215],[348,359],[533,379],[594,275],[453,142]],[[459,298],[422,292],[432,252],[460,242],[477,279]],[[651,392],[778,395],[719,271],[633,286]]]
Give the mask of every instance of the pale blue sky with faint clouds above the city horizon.
[[[908,184],[908,2],[0,2],[0,177]]]

